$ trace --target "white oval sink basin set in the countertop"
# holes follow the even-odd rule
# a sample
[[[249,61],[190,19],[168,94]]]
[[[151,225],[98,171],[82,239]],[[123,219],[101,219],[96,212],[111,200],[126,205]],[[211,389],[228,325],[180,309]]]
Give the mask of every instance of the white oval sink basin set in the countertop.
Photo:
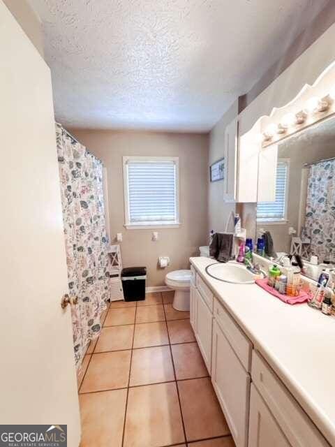
[[[212,278],[234,284],[253,284],[255,282],[255,274],[247,270],[245,265],[237,263],[210,264],[207,266],[206,272]]]

